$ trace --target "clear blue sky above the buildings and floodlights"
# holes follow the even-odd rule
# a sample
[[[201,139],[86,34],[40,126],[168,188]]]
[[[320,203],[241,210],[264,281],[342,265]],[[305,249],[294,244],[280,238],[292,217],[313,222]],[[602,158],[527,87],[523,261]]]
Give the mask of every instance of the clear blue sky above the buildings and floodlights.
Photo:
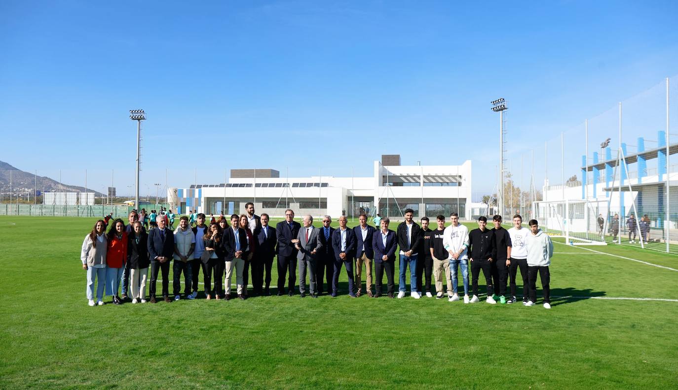
[[[372,175],[542,145],[678,74],[675,1],[3,1],[0,160],[101,190],[224,170]],[[201,154],[201,153],[205,154]],[[197,157],[200,155],[199,157]],[[580,161],[580,156],[576,156]],[[109,173],[105,173],[108,171]],[[574,172],[573,172],[574,173]],[[152,187],[152,186],[151,186]]]

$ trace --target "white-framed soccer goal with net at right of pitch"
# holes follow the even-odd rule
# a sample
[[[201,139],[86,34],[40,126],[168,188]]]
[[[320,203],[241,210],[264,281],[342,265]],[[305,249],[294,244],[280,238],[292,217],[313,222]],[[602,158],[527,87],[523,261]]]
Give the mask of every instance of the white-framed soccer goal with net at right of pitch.
[[[602,200],[542,200],[534,202],[534,216],[544,232],[573,245],[606,245],[610,224]]]

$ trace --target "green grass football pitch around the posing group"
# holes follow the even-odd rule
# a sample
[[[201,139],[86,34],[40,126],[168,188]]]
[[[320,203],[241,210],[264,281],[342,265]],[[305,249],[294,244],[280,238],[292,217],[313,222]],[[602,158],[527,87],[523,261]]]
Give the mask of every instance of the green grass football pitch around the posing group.
[[[534,307],[425,296],[351,299],[345,273],[336,299],[276,297],[273,288],[274,296],[247,301],[89,307],[79,254],[95,220],[0,217],[0,388],[667,389],[678,383],[675,255],[555,244],[551,310],[541,305],[539,283]],[[482,276],[479,284],[484,292]]]

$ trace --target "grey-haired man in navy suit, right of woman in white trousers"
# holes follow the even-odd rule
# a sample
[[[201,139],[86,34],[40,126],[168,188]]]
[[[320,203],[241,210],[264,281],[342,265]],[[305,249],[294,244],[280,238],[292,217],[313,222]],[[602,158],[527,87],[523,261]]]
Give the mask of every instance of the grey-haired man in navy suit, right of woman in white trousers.
[[[158,228],[148,234],[148,257],[151,257],[151,287],[148,294],[151,295],[151,303],[155,303],[155,282],[158,280],[158,270],[163,273],[163,299],[169,299],[169,261],[174,255],[174,233],[166,228],[164,218],[157,219]]]

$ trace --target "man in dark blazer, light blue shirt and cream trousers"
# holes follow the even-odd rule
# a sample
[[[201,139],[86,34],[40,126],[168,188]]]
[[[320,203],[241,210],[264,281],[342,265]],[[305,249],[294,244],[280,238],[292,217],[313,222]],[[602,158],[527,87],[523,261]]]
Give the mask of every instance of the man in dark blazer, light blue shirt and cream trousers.
[[[243,283],[243,270],[245,269],[245,258],[247,257],[247,233],[239,228],[238,221],[240,217],[237,214],[231,215],[231,227],[224,229],[224,260],[226,261],[226,301],[231,299],[231,276],[235,267],[235,284],[239,299],[245,299],[243,290],[247,288]],[[218,295],[218,293],[217,293]]]

